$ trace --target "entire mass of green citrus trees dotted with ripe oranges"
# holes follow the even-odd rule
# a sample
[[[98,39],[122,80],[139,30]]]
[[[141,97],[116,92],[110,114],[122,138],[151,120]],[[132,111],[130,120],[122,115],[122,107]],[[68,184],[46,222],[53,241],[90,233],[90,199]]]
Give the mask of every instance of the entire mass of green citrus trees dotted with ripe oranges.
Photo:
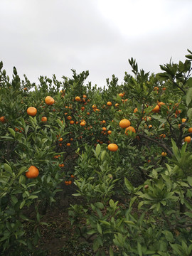
[[[40,77],[37,87],[16,68],[10,80],[0,63],[4,255],[33,252],[47,225],[41,216],[69,186],[82,198],[70,205],[71,224],[95,255],[191,255],[188,53],[156,75],[130,59],[134,75],[125,73],[122,85],[113,75],[103,89],[85,85],[88,72],[75,70],[62,82]]]

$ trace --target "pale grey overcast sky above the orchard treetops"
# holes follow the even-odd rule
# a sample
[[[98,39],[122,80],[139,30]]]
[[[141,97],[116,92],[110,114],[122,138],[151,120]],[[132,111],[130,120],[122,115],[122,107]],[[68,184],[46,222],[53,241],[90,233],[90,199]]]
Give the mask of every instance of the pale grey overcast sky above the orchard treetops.
[[[191,0],[0,0],[0,61],[38,84],[89,70],[86,82],[106,85],[112,74],[185,60],[192,50]]]

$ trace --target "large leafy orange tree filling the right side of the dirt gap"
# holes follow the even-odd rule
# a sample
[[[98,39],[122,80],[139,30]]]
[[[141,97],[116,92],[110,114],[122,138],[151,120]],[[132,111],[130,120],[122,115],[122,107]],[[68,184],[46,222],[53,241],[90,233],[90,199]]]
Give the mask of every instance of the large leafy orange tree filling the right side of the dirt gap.
[[[110,109],[108,124],[117,151],[103,144],[80,156],[74,196],[85,203],[69,213],[80,235],[94,238],[96,255],[191,255],[192,53],[186,58],[151,76],[129,60],[135,76],[124,77],[128,100]],[[131,131],[119,127],[122,119]]]

